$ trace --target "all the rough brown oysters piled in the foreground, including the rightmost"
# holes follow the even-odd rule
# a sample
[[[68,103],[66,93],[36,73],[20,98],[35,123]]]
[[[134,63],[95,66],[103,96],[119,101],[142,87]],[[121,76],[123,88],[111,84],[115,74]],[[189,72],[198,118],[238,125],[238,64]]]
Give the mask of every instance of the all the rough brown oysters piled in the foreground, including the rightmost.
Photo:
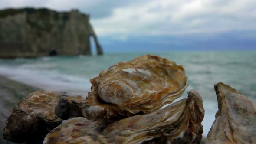
[[[30,94],[13,108],[4,138],[22,143],[45,137],[44,144],[201,142],[199,93],[189,91],[188,98],[173,102],[188,86],[183,66],[139,56],[103,70],[90,82],[86,99],[65,92]],[[221,82],[215,90],[219,111],[206,143],[256,142],[255,103]]]

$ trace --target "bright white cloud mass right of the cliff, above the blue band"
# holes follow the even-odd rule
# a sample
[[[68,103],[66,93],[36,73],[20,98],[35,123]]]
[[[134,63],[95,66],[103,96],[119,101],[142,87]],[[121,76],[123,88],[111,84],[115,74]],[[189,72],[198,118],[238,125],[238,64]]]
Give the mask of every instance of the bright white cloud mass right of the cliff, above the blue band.
[[[118,7],[93,19],[97,33],[126,39],[139,35],[186,35],[256,29],[255,0],[158,0]]]

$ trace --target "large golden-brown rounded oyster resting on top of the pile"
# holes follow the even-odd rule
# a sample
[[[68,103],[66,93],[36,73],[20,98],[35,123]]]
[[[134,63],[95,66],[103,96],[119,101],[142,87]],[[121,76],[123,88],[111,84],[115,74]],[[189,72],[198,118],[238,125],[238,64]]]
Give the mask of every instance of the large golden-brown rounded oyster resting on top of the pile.
[[[83,108],[88,119],[150,113],[180,97],[188,85],[181,65],[151,55],[113,65],[91,83]]]

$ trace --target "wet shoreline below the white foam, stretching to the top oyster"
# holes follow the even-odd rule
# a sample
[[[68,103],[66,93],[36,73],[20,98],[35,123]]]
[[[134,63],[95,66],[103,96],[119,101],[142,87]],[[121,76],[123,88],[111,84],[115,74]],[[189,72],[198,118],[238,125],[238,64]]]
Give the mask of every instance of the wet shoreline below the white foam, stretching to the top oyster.
[[[19,80],[12,79],[8,75],[0,75],[0,144],[14,144],[3,139],[3,128],[7,118],[10,116],[12,108],[17,103],[25,98],[28,94],[39,91],[65,91],[65,88],[55,88],[51,85],[28,84],[20,82]],[[85,98],[89,90],[80,90],[69,88],[68,91],[71,95],[82,95]]]

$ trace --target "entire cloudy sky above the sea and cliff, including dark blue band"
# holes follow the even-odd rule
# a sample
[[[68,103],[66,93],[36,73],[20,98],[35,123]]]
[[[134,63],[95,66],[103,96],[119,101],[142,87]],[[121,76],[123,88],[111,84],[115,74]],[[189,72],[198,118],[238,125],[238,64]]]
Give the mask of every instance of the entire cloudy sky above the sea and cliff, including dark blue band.
[[[0,0],[8,7],[88,13],[106,52],[256,50],[256,0]]]

